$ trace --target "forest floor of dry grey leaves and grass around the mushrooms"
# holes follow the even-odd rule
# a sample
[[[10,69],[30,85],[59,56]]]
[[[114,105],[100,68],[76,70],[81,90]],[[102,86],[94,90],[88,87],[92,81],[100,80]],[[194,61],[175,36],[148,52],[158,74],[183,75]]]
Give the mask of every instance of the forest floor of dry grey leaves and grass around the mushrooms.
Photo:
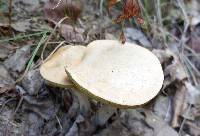
[[[144,0],[145,25],[123,28],[112,21],[121,2],[111,15],[104,0],[74,2],[0,0],[0,136],[200,136],[200,1]],[[66,7],[82,9],[76,22]],[[162,63],[162,90],[148,104],[115,109],[90,99],[84,111],[72,90],[41,77],[43,58],[61,44],[118,40],[122,29]]]

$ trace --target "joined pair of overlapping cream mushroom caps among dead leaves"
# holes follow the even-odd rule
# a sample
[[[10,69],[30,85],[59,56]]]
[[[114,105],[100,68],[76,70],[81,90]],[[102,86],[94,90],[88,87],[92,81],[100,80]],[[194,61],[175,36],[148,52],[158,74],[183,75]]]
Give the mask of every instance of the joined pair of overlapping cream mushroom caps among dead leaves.
[[[40,73],[50,84],[79,90],[83,93],[76,95],[86,94],[120,108],[149,102],[164,80],[152,52],[115,40],[97,40],[87,47],[63,46],[41,66]]]

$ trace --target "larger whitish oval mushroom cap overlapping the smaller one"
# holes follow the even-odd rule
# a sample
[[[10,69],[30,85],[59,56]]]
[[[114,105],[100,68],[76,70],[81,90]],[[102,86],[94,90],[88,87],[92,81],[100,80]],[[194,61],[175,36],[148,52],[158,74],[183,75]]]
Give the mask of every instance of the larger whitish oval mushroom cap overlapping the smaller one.
[[[66,67],[84,93],[120,107],[147,103],[160,91],[164,75],[157,57],[133,43],[98,40],[90,43],[76,67]]]

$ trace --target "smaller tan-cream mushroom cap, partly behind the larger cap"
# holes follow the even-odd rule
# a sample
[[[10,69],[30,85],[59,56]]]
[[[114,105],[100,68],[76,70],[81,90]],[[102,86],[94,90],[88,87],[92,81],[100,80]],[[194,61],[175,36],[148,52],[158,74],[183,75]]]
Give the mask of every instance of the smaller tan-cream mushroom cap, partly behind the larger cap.
[[[40,67],[40,74],[50,84],[59,87],[70,87],[72,82],[66,75],[65,66],[73,67],[80,63],[84,55],[84,46],[66,45],[60,47]]]

